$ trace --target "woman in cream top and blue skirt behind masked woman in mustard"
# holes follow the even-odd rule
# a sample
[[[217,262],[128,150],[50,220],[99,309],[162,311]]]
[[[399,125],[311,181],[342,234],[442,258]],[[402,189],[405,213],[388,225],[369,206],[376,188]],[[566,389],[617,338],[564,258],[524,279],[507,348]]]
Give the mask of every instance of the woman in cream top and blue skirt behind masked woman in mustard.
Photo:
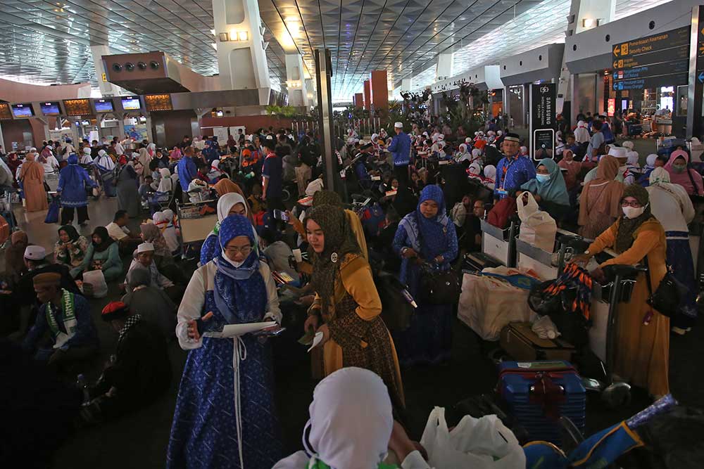
[[[684,187],[670,183],[670,174],[665,169],[655,168],[650,173],[646,191],[650,195],[650,210],[665,230],[667,266],[689,290],[679,306],[679,314],[670,321],[672,331],[684,335],[697,319],[697,283],[687,226],[694,219],[694,207]]]

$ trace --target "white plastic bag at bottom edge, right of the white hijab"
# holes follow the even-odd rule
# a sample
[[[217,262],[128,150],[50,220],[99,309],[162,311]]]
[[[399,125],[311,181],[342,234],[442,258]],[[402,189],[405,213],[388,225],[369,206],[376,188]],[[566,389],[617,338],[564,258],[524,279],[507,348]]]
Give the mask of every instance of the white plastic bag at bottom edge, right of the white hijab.
[[[465,416],[448,430],[445,409],[436,407],[428,417],[420,444],[436,469],[519,469],[526,467],[521,445],[496,416]]]

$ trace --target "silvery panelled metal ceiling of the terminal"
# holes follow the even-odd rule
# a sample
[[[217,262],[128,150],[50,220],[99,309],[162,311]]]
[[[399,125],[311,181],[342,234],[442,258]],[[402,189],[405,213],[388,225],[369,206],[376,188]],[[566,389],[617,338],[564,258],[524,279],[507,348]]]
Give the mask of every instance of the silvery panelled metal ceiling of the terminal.
[[[258,1],[269,30],[265,36],[272,36],[266,51],[272,85],[286,81],[286,53],[300,53],[314,72],[313,50],[326,47],[332,52],[335,101],[349,101],[372,70],[387,70],[390,84],[415,76],[416,85],[432,80],[441,53],[456,52],[455,73],[480,58],[498,60],[486,56],[486,49],[498,47],[505,54],[540,45],[538,35],[541,44],[548,36],[558,39],[570,5],[570,0]],[[618,0],[617,18],[661,3]],[[0,8],[0,76],[97,87],[94,44],[107,44],[113,53],[164,51],[203,75],[218,72],[212,0],[0,0]],[[532,20],[521,25],[527,12]]]

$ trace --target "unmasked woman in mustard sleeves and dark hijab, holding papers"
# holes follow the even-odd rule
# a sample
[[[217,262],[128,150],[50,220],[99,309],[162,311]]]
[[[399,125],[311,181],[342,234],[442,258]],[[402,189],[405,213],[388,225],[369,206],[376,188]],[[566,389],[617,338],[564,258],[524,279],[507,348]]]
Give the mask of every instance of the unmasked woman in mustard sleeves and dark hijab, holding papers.
[[[372,280],[372,269],[341,207],[319,205],[305,221],[313,251],[315,301],[304,326],[322,333],[322,375],[345,366],[367,368],[389,388],[391,401],[403,409],[403,385],[396,349],[382,321],[382,302]]]

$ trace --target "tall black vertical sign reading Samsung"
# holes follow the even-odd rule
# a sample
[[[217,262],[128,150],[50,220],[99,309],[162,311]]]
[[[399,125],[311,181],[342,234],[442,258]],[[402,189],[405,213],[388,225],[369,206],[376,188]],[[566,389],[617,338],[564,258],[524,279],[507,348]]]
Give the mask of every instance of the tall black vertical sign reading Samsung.
[[[557,85],[531,85],[531,150],[534,160],[555,158],[555,98]]]

